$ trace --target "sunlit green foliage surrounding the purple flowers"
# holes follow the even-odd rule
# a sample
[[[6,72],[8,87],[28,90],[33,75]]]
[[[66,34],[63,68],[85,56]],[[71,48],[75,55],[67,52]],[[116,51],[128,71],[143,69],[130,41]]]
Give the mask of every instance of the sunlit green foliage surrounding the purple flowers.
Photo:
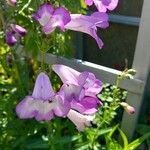
[[[47,53],[70,57],[74,49],[71,32],[61,33],[56,30],[50,36],[45,36],[31,19],[34,10],[44,2],[44,0],[19,0],[18,7],[13,8],[5,1],[0,1],[0,149],[136,149],[150,137],[150,133],[144,133],[142,137],[129,143],[119,125],[123,112],[120,103],[125,101],[127,91],[118,88],[119,81],[132,77],[134,70],[126,69],[118,76],[113,86],[104,84],[102,93],[98,95],[103,106],[96,114],[93,127],[86,128],[83,133],[78,132],[67,119],[57,118],[50,122],[37,122],[33,119],[21,120],[16,116],[16,104],[32,92],[35,77],[41,69],[36,56],[46,50]],[[55,6],[66,6],[71,12],[86,13],[83,0],[50,0],[50,2]],[[5,44],[4,37],[7,27],[13,22],[23,25],[28,34],[11,49]],[[17,49],[21,49],[21,53],[16,53]],[[21,54],[24,51],[33,57],[23,57]],[[44,67],[57,91],[61,82],[51,72],[49,65]],[[123,144],[120,144],[119,136]]]

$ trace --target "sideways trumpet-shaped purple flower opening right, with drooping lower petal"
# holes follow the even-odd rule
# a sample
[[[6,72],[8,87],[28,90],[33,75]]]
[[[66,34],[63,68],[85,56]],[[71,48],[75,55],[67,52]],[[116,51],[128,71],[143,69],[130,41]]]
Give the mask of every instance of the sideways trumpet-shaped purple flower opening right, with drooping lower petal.
[[[108,26],[108,15],[106,13],[95,12],[91,16],[72,14],[71,21],[65,25],[65,28],[91,35],[101,49],[103,42],[97,35],[97,27],[105,29]]]

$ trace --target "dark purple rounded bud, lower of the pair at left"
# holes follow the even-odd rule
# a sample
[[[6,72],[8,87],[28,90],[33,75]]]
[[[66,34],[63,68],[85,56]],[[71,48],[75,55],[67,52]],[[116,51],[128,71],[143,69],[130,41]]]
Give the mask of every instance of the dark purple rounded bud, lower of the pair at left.
[[[17,39],[12,32],[6,32],[5,40],[9,46],[14,46],[17,43]]]

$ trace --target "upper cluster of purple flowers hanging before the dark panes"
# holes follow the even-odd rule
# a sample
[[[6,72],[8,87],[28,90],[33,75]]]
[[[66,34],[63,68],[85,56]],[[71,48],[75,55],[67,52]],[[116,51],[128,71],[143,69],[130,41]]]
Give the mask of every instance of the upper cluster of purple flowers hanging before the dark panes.
[[[70,14],[63,7],[55,9],[51,4],[45,3],[32,16],[40,23],[45,34],[50,34],[56,27],[59,27],[62,31],[68,29],[83,32],[91,35],[101,49],[103,42],[97,35],[97,28],[105,29],[109,26],[106,11],[107,9],[109,11],[115,9],[118,0],[85,0],[85,3],[89,6],[94,3],[98,11],[90,16]]]

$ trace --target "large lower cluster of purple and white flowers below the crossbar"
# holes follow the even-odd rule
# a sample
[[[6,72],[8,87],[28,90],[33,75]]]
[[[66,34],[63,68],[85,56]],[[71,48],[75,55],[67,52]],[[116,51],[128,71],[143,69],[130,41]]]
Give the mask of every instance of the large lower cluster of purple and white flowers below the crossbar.
[[[55,93],[46,73],[41,72],[35,82],[32,95],[26,96],[16,107],[21,119],[35,118],[37,121],[68,117],[79,131],[90,126],[98,106],[102,103],[97,94],[102,82],[90,72],[78,72],[64,65],[53,65],[54,72],[63,85]]]

